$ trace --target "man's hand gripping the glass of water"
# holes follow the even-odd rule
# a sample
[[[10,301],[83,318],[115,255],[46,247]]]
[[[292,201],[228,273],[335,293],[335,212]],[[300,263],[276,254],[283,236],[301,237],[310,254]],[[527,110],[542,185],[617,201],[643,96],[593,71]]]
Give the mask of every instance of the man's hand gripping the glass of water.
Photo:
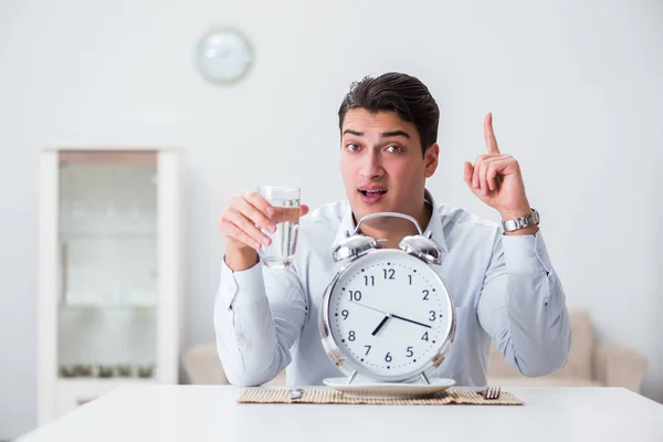
[[[271,217],[274,208],[256,191],[244,192],[231,198],[219,220],[225,235],[225,264],[239,272],[250,269],[257,262],[261,244],[270,245],[271,239],[260,229],[274,232],[276,224]],[[308,213],[308,207],[299,207],[299,215]]]

